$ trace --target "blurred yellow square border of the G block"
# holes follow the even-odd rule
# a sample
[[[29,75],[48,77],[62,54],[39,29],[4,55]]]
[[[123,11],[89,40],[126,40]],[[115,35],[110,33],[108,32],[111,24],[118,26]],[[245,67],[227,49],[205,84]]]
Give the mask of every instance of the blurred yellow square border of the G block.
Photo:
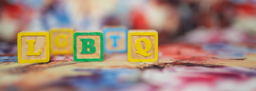
[[[52,28],[50,29],[50,43],[52,43],[52,33],[55,33],[55,32],[68,32],[70,33],[70,36],[71,38],[74,38],[73,35],[74,35],[74,30],[73,29],[69,29],[69,28]],[[50,53],[52,54],[72,54],[73,53],[73,39],[71,39],[71,50],[69,51],[53,51],[52,49],[52,44],[50,44]]]

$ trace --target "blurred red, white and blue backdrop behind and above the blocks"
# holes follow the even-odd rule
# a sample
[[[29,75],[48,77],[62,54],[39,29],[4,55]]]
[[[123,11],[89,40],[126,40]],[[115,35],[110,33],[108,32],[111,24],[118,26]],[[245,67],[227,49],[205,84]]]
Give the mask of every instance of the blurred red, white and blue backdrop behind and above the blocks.
[[[256,0],[0,0],[0,40],[23,30],[155,29],[159,41],[256,43]],[[184,38],[184,37],[182,37]]]

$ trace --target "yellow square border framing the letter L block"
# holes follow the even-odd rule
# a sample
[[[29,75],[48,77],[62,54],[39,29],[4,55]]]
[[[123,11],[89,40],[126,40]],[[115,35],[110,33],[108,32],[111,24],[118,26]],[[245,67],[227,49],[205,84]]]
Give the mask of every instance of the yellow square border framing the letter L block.
[[[46,36],[46,59],[44,60],[22,60],[21,59],[21,37],[22,36]],[[36,33],[18,33],[17,36],[17,48],[18,48],[18,62],[19,63],[44,63],[50,61],[50,42],[48,32],[36,32]]]

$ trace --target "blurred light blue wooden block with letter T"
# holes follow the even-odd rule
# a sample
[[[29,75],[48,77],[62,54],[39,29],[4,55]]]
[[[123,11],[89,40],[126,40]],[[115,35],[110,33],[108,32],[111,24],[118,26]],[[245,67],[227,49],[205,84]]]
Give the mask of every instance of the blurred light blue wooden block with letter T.
[[[104,53],[127,52],[127,28],[106,27],[104,33]]]

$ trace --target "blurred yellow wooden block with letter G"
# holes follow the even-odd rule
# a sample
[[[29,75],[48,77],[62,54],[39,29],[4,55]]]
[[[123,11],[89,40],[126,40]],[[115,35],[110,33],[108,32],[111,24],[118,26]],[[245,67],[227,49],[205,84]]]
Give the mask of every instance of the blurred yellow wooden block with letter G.
[[[72,54],[73,53],[72,28],[50,29],[50,53],[52,54]]]

